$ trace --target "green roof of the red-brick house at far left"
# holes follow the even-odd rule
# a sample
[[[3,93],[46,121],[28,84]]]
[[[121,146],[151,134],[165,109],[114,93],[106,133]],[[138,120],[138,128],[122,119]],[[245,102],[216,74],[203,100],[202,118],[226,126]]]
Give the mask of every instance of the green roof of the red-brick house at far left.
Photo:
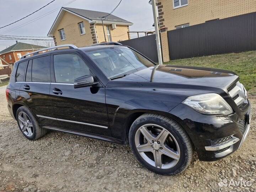
[[[4,50],[1,50],[0,55],[4,54],[4,53],[13,52],[13,51],[33,50],[33,49],[35,50],[35,49],[43,49],[43,48],[46,48],[46,47],[28,44],[28,43],[17,42],[14,45],[7,47]]]

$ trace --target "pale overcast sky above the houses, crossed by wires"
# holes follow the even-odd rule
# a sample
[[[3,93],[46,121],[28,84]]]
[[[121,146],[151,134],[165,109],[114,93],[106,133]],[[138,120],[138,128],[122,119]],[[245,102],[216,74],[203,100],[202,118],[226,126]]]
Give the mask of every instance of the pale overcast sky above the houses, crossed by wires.
[[[14,22],[28,14],[31,14],[32,12],[46,5],[50,1],[51,0],[0,0],[0,27]],[[46,37],[48,31],[50,30],[50,27],[52,26],[55,18],[57,17],[60,7],[62,6],[102,12],[111,12],[114,7],[119,3],[119,1],[120,0],[55,0],[54,2],[44,7],[40,11],[36,12],[35,14],[8,27],[1,28],[0,34]],[[152,25],[154,23],[154,19],[152,7],[150,4],[148,4],[148,1],[149,0],[122,0],[121,4],[113,12],[113,15],[133,22],[134,25],[130,26],[130,31],[149,30],[153,28]],[[69,2],[71,3],[65,5]],[[52,10],[55,11],[50,12]],[[49,15],[44,16],[44,14],[46,13],[48,13]],[[134,36],[136,35],[133,34],[132,37]],[[19,41],[34,43],[33,41]],[[15,44],[15,40],[9,41],[0,39],[0,50],[9,47],[12,44]]]

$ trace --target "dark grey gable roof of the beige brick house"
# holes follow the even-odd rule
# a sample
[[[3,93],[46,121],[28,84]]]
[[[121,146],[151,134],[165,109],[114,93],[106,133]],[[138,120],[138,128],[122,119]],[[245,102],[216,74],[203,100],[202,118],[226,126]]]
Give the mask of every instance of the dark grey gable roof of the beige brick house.
[[[100,11],[91,11],[91,10],[85,10],[85,9],[76,9],[76,8],[70,8],[70,7],[62,7],[60,9],[60,12],[58,16],[56,17],[52,27],[50,28],[50,31],[48,32],[47,36],[53,36],[53,32],[55,31],[56,27],[58,26],[60,20],[62,19],[62,16],[64,15],[64,12],[70,12],[71,14],[74,14],[78,17],[81,17],[89,23],[95,23],[95,22],[101,22],[99,17],[103,17],[108,15],[106,12],[100,12]],[[114,16],[112,14],[108,15],[105,20],[103,20],[103,23],[110,23],[110,24],[119,24],[119,25],[133,25],[132,22],[126,21],[120,17]]]

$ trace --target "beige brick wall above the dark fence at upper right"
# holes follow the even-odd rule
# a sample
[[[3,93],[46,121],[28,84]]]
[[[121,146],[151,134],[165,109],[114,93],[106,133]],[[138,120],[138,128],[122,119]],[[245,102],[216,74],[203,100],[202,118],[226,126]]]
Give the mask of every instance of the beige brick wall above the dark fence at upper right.
[[[191,26],[256,11],[256,0],[188,0],[187,6],[177,9],[174,9],[173,0],[158,2],[160,27],[168,27],[168,30],[186,23]]]

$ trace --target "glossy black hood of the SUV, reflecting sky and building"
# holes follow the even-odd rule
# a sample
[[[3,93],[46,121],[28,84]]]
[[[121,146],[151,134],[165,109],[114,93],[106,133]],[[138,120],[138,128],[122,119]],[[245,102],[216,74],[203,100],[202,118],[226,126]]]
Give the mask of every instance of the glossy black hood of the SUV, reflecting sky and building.
[[[228,96],[227,89],[238,79],[239,77],[234,72],[228,70],[195,66],[156,65],[110,81],[108,86],[142,91],[171,91],[173,94],[187,96],[207,92]]]

